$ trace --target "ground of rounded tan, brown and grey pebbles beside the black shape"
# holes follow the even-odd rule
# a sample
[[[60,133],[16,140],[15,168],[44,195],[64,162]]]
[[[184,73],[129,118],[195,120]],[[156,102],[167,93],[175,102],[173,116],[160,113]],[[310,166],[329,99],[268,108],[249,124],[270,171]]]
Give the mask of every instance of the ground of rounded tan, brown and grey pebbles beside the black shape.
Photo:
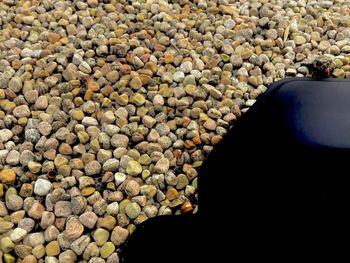
[[[350,76],[349,14],[348,0],[1,0],[0,258],[119,262],[138,224],[195,211],[202,161],[271,83],[320,55]]]

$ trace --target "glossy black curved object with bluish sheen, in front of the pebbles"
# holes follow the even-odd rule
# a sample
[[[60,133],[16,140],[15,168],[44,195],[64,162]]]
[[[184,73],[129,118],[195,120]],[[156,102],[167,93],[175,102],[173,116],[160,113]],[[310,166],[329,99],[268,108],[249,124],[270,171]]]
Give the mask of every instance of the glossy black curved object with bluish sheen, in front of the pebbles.
[[[348,250],[349,167],[350,82],[276,82],[203,163],[198,213],[146,221],[124,262],[334,260]]]

